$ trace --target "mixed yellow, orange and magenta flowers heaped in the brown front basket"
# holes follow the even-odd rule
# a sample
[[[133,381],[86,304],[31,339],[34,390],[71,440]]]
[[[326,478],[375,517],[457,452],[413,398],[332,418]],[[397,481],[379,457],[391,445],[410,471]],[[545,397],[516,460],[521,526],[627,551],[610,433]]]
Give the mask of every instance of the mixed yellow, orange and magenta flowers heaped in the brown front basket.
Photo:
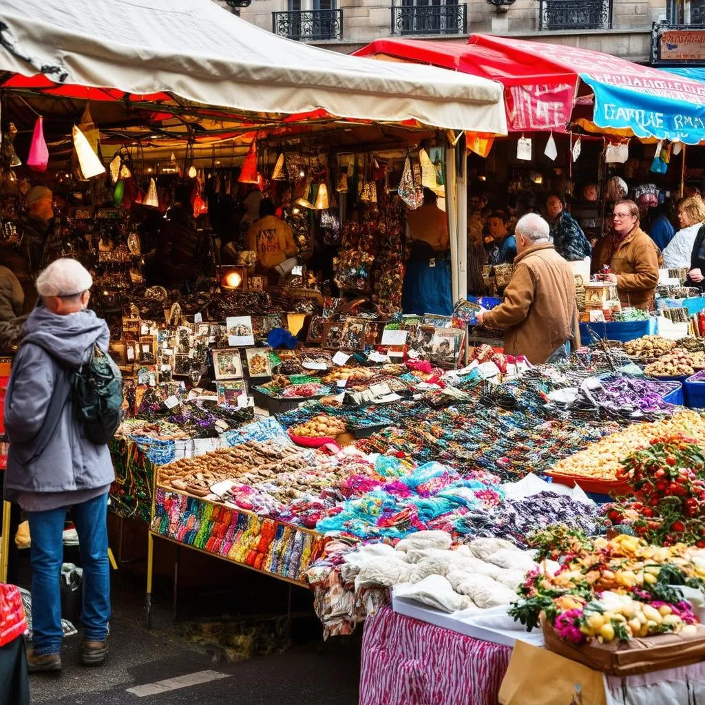
[[[546,547],[551,544],[552,533],[560,548],[549,553]],[[699,548],[685,544],[651,546],[625,534],[610,541],[591,540],[577,530],[560,526],[546,529],[532,541],[539,546],[539,560],[556,558],[558,568],[549,572],[544,564],[529,572],[517,589],[522,599],[509,613],[528,631],[539,624],[541,613],[560,635],[575,643],[582,643],[584,637],[609,641],[680,630],[695,621],[678,586],[705,587],[705,551]],[[635,606],[634,602],[642,604]],[[622,604],[626,605],[624,609]],[[661,620],[644,606],[661,611]],[[594,613],[607,617],[599,619]],[[645,616],[646,622],[639,615]],[[680,621],[669,618],[664,622],[668,615]],[[638,628],[636,622],[629,625],[635,618],[639,619]],[[654,624],[644,631],[644,624],[649,622]],[[603,633],[606,624],[609,626]]]

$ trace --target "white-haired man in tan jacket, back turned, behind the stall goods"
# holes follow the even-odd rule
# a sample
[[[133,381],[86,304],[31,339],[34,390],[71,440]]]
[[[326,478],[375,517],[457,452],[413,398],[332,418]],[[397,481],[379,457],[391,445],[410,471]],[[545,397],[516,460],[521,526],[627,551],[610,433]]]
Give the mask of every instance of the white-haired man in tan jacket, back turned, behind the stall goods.
[[[570,264],[548,239],[548,223],[535,213],[520,219],[515,230],[517,257],[504,300],[476,317],[487,328],[505,331],[507,355],[524,355],[542,364],[580,346],[575,279]]]

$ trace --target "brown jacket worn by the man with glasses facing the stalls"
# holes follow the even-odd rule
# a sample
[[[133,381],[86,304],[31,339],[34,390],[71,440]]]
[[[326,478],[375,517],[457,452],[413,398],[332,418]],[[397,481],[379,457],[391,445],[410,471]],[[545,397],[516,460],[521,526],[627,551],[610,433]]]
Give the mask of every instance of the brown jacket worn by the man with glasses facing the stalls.
[[[595,247],[592,271],[608,264],[617,275],[617,293],[623,306],[653,310],[658,284],[658,260],[661,252],[654,240],[637,226],[621,242],[608,235]]]

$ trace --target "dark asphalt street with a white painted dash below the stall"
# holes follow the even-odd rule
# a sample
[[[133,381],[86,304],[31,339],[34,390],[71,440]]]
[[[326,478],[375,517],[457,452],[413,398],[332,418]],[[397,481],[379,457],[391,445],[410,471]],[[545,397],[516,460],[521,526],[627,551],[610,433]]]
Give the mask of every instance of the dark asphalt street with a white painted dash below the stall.
[[[293,646],[283,653],[228,663],[183,637],[173,622],[168,586],[155,594],[152,629],[145,629],[142,585],[138,575],[114,577],[110,653],[104,666],[80,665],[79,626],[78,635],[64,639],[61,673],[30,676],[32,704],[357,704],[359,638],[324,644],[314,620],[304,614],[305,628],[294,630]],[[192,599],[181,601],[197,611],[200,602]],[[190,612],[190,618],[197,616]],[[208,616],[214,616],[212,609]]]

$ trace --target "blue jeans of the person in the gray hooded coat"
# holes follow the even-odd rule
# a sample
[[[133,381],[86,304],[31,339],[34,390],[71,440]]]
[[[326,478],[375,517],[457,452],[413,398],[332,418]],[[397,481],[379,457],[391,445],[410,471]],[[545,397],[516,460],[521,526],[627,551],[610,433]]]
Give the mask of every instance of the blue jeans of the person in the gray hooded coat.
[[[83,639],[102,642],[110,620],[108,494],[71,508],[83,566]],[[37,655],[61,651],[61,563],[66,507],[27,512],[32,537],[32,648]]]

